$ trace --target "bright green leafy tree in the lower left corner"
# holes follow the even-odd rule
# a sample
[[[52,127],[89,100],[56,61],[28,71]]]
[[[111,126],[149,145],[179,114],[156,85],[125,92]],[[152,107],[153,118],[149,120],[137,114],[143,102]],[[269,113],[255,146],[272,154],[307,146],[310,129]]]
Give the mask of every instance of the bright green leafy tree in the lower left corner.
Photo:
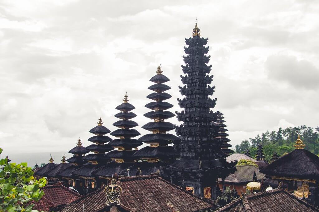
[[[0,148],[0,154],[2,149]],[[27,163],[8,163],[8,159],[0,160],[0,212],[35,212],[32,201],[39,201],[44,195],[40,190],[46,179],[36,180]]]

